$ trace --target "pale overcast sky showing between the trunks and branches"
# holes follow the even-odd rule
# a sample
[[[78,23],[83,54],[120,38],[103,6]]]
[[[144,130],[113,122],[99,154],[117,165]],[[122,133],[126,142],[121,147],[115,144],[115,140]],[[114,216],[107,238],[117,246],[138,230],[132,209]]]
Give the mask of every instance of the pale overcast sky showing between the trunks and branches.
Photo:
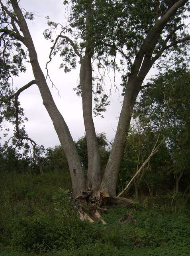
[[[62,0],[21,0],[20,4],[30,12],[35,12],[35,20],[27,21],[35,48],[38,54],[39,63],[45,72],[45,64],[49,60],[49,52],[51,44],[43,38],[43,31],[47,28],[47,20],[45,16],[49,16],[51,20],[59,23],[65,23],[65,7]],[[84,135],[84,123],[82,118],[82,100],[72,90],[76,87],[79,78],[79,66],[76,70],[65,74],[63,69],[59,69],[61,63],[60,58],[55,58],[49,65],[49,74],[54,84],[59,89],[59,94],[55,88],[51,88],[51,82],[48,81],[49,87],[53,98],[59,108],[61,114],[67,125],[74,140],[77,140]],[[154,72],[155,73],[155,72]],[[149,72],[149,77],[153,71]],[[27,64],[27,72],[21,74],[18,78],[14,79],[14,86],[17,88],[22,87],[29,81],[34,79],[31,72],[30,64]],[[108,91],[110,89],[110,80],[107,77],[105,80]],[[116,83],[119,87],[121,79],[116,77]],[[118,116],[121,110],[122,97],[115,88],[112,89],[110,97],[111,104],[104,114],[104,118],[94,118],[96,132],[104,132],[108,140],[112,140],[118,124]],[[42,99],[36,85],[31,86],[19,96],[21,106],[24,108],[25,116],[28,122],[25,123],[27,134],[30,138],[35,140],[37,144],[43,144],[45,148],[54,147],[59,145],[59,139],[54,130],[53,123],[42,104]],[[11,133],[10,133],[11,136]]]

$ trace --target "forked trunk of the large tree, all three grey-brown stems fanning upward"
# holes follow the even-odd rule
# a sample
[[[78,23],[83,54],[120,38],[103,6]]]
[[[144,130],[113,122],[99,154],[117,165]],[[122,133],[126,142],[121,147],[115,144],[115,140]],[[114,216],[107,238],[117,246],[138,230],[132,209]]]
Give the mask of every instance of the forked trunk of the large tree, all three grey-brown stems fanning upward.
[[[41,93],[43,99],[43,104],[53,121],[53,125],[63,146],[67,161],[69,164],[69,170],[71,174],[72,186],[74,196],[80,193],[80,191],[85,188],[85,178],[80,159],[76,150],[76,146],[72,140],[69,128],[63,119],[63,116],[57,109],[51,92],[48,88],[47,82],[45,80],[44,74],[39,66],[37,60],[37,54],[31,35],[29,33],[25,18],[22,14],[20,7],[18,6],[17,0],[10,0],[16,17],[18,19],[18,25],[20,30],[24,34],[23,42],[28,49],[29,58],[31,66],[33,69],[33,74],[35,76],[36,84]],[[176,13],[178,8],[183,6],[187,0],[178,0],[163,16],[160,20],[156,21],[155,25],[149,30],[147,38],[145,39],[141,49],[136,54],[135,62],[131,69],[131,75],[129,76],[129,81],[125,89],[125,96],[123,99],[123,106],[121,109],[121,114],[119,116],[118,128],[116,132],[116,137],[114,144],[110,153],[108,164],[104,172],[104,177],[102,179],[101,188],[106,188],[109,190],[112,196],[116,195],[116,185],[118,180],[119,168],[121,165],[121,159],[123,156],[125,148],[125,139],[129,131],[129,125],[131,120],[131,115],[133,107],[139,94],[141,84],[149,72],[150,68],[154,64],[163,51],[166,48],[160,50],[156,56],[152,56],[153,50],[160,38],[163,28],[166,26],[168,20],[171,16]],[[91,24],[93,22],[90,20],[90,8],[92,1],[89,1],[89,9],[86,12],[86,35],[90,38]],[[89,28],[89,30],[88,30]],[[175,32],[176,30],[174,30]],[[18,33],[16,31],[16,33]],[[89,34],[88,34],[89,33]],[[168,34],[165,47],[172,34]],[[94,128],[94,123],[92,119],[92,66],[91,66],[91,56],[90,52],[90,42],[86,48],[85,56],[81,62],[80,70],[80,83],[82,89],[82,103],[83,103],[83,116],[84,125],[86,130],[86,138],[88,145],[88,182],[89,186],[93,189],[97,189],[100,186],[101,181],[101,168],[100,168],[100,154],[98,149],[98,143],[96,139],[96,133]],[[163,46],[163,47],[164,47]]]

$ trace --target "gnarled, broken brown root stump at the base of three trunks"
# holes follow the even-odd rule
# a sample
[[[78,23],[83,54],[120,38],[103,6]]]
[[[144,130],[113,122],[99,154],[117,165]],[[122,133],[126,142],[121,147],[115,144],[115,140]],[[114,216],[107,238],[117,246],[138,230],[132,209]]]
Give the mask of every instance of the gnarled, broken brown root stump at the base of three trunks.
[[[112,197],[109,195],[107,190],[96,190],[88,189],[82,191],[75,200],[76,207],[79,212],[80,220],[86,220],[88,222],[95,222],[100,220],[102,224],[106,222],[102,219],[101,212],[107,212],[105,207],[107,205],[126,205],[129,206],[133,203],[133,200],[120,197]]]

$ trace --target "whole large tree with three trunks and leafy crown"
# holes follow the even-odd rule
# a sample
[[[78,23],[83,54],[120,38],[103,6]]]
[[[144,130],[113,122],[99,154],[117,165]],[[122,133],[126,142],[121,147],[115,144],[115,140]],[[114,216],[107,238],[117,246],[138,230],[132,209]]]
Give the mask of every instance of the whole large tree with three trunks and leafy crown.
[[[65,4],[67,0],[64,1]],[[39,88],[43,104],[49,113],[53,125],[63,146],[71,174],[74,196],[85,188],[98,190],[104,188],[114,196],[119,168],[125,148],[133,107],[141,90],[143,80],[156,60],[162,54],[185,48],[190,40],[184,24],[185,14],[189,10],[188,0],[174,1],[140,1],[140,0],[72,0],[69,25],[61,25],[61,33],[55,38],[50,52],[50,60],[61,51],[62,67],[69,71],[76,66],[76,58],[80,61],[79,93],[82,96],[82,110],[88,147],[87,177],[78,156],[76,146],[69,128],[57,109],[47,80],[37,59],[31,34],[26,19],[33,15],[21,8],[20,1],[0,1],[0,42],[1,42],[1,111],[12,108],[16,117],[17,138],[28,139],[24,132],[19,131],[22,109],[19,107],[19,94],[36,84]],[[49,21],[50,30],[45,37],[53,36],[52,29],[60,24]],[[25,51],[27,49],[27,52]],[[24,71],[23,60],[29,56],[34,79],[13,94],[9,79]],[[117,56],[116,56],[117,55]],[[116,58],[117,57],[117,58]],[[118,58],[121,66],[116,63]],[[93,81],[92,59],[98,68],[112,66],[114,70],[123,71],[123,105],[119,116],[116,136],[110,152],[108,164],[101,172],[100,152],[96,131],[92,118]],[[68,66],[68,64],[70,66]],[[96,93],[102,94],[101,83],[97,82]],[[8,105],[6,99],[9,100]],[[14,99],[14,103],[12,102]],[[96,114],[108,104],[107,96],[96,98]],[[12,104],[12,105],[11,105]],[[14,111],[14,108],[16,109]],[[11,116],[7,116],[11,119]]]

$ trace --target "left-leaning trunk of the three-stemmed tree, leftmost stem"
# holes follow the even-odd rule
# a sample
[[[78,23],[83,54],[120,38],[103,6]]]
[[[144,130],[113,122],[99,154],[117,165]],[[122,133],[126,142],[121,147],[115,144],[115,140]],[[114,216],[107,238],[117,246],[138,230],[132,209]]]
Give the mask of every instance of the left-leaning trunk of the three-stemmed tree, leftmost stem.
[[[18,25],[20,26],[20,30],[24,35],[24,44],[29,52],[29,59],[33,69],[36,84],[43,99],[43,105],[45,106],[49,116],[51,117],[51,120],[55,127],[55,131],[57,132],[61,145],[63,146],[65,155],[67,157],[69,170],[71,173],[73,193],[74,195],[76,195],[85,188],[84,172],[82,170],[76,147],[69,132],[69,128],[65,123],[63,116],[57,109],[57,106],[55,105],[55,102],[51,95],[51,92],[45,80],[45,76],[37,60],[37,53],[35,51],[33,40],[29,33],[27,23],[24,19],[22,11],[18,6],[18,2],[16,0],[11,0],[11,3],[14,8],[14,12],[16,13],[16,16],[18,18]]]

